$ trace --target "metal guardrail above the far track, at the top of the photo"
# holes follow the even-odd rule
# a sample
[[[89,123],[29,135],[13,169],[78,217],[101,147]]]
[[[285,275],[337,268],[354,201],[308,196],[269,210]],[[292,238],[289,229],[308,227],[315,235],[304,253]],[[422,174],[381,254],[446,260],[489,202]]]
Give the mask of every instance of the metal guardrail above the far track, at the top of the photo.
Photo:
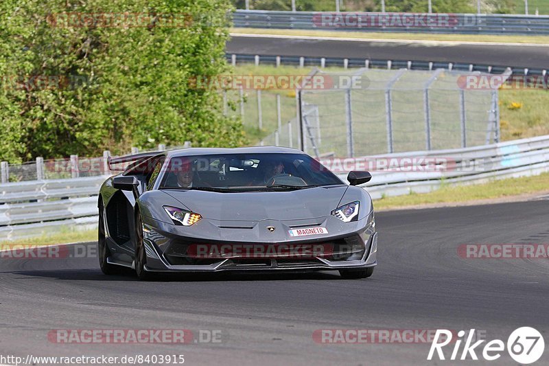
[[[323,15],[325,17],[323,17]],[[350,15],[350,17],[349,17]],[[339,16],[339,18],[336,18]],[[358,16],[364,19],[357,21]],[[406,16],[411,16],[411,23]],[[460,34],[549,34],[549,16],[512,14],[421,14],[432,22],[415,20],[417,14],[369,12],[279,12],[236,10],[234,27],[355,32],[416,32]],[[442,22],[442,23],[441,23]],[[431,25],[430,25],[431,24]]]

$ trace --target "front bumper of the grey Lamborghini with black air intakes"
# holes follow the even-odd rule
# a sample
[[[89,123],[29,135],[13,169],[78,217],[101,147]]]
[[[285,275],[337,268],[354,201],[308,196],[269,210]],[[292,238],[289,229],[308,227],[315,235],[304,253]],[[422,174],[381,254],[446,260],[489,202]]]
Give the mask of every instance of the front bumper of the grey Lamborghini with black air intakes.
[[[330,219],[331,220],[331,219]],[[338,220],[335,219],[334,220]],[[262,240],[252,244],[248,240],[220,240],[221,238],[192,238],[182,235],[181,230],[187,228],[175,227],[165,222],[143,220],[143,242],[145,244],[146,271],[152,272],[190,272],[213,273],[221,271],[330,271],[340,269],[363,269],[377,265],[377,232],[373,214],[359,222],[342,222],[347,230],[339,231],[337,235],[316,238],[286,238],[285,240]],[[318,220],[317,220],[318,221]],[[338,220],[339,221],[339,220]],[[324,225],[335,232],[334,225],[338,221],[324,222]],[[272,224],[272,222],[263,223]],[[188,230],[188,229],[187,229]],[[242,229],[246,232],[246,229]],[[234,230],[232,230],[234,232]],[[249,232],[249,231],[248,231]],[[345,244],[352,242],[353,244]],[[207,246],[231,247],[246,245],[265,245],[276,249],[292,244],[299,247],[322,245],[332,246],[330,253],[309,253],[308,255],[263,255],[249,257],[224,253],[221,256],[189,258],[189,247],[204,244]],[[275,250],[276,251],[276,250]],[[226,255],[227,258],[224,258]]]

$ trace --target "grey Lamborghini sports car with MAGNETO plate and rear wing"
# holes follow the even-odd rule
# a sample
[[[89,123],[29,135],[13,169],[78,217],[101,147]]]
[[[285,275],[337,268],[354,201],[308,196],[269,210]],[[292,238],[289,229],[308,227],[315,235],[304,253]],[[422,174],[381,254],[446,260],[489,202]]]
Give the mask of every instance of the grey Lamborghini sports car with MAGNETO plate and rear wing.
[[[104,273],[329,271],[369,277],[377,233],[369,194],[292,148],[188,148],[129,164],[99,196]]]

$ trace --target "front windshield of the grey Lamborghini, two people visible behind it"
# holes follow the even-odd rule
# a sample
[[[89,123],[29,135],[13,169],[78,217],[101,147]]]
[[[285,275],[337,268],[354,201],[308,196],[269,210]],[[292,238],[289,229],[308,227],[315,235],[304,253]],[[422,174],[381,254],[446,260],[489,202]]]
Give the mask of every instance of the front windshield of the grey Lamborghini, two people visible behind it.
[[[172,157],[166,166],[161,189],[238,192],[344,184],[318,161],[305,154]]]

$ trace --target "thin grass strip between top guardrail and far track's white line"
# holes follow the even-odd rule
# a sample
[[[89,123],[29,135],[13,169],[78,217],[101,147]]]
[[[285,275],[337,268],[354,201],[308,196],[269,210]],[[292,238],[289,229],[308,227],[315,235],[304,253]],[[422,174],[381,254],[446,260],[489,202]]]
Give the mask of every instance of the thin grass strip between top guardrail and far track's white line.
[[[547,0],[543,0],[547,1]],[[547,1],[549,3],[549,1]],[[548,5],[549,6],[549,5]],[[532,8],[530,8],[532,9]],[[272,30],[259,28],[232,28],[231,33],[239,34],[280,34],[283,36],[317,36],[336,38],[363,38],[373,40],[406,41],[452,41],[452,42],[493,42],[493,43],[536,43],[549,44],[549,36],[519,36],[490,34],[432,34],[396,32],[340,32],[329,30]]]

